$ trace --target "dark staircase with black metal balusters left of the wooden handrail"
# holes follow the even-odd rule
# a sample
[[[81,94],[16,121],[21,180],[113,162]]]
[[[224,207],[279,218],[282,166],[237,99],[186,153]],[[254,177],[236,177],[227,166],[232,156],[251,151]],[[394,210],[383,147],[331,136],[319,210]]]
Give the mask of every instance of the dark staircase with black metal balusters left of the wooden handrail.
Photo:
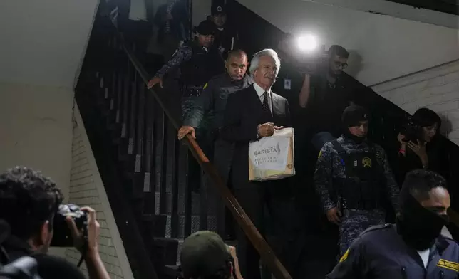
[[[206,192],[187,185],[189,154],[176,139],[177,123],[145,88],[146,73],[130,62],[115,31],[96,19],[76,100],[123,242],[136,247],[127,251],[135,278],[175,278],[182,239],[215,230],[215,216],[201,210]]]

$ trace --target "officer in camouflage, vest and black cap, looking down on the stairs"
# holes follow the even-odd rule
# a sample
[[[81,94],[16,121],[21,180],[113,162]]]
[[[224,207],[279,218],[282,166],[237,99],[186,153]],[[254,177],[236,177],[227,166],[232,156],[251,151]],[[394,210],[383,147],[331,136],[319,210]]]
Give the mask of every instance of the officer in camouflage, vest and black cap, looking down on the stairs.
[[[321,149],[314,184],[327,219],[339,226],[343,254],[369,226],[385,223],[388,201],[397,208],[398,186],[386,152],[368,142],[368,112],[351,105],[342,115],[344,133]]]

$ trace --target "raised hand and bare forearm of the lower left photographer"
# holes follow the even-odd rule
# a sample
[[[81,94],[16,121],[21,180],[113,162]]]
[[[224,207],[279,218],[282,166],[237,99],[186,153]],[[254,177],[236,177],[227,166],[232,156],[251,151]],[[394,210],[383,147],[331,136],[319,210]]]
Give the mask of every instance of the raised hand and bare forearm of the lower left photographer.
[[[88,249],[86,249],[86,254],[83,256],[86,268],[88,268],[89,278],[109,279],[110,275],[108,275],[99,254],[98,238],[100,225],[96,220],[96,211],[91,209],[91,207],[83,207],[81,210],[86,211],[88,214]],[[75,248],[82,252],[85,243],[83,230],[77,228],[75,221],[71,217],[67,217],[66,222],[72,232]]]

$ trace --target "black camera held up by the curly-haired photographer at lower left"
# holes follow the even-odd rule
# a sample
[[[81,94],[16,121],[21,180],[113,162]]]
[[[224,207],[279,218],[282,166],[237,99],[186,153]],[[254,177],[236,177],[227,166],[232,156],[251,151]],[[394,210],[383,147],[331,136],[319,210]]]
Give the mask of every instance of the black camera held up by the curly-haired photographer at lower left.
[[[75,204],[61,204],[53,219],[54,236],[51,241],[53,247],[72,247],[73,238],[66,217],[71,216],[78,230],[83,231],[83,237],[88,236],[88,215]]]

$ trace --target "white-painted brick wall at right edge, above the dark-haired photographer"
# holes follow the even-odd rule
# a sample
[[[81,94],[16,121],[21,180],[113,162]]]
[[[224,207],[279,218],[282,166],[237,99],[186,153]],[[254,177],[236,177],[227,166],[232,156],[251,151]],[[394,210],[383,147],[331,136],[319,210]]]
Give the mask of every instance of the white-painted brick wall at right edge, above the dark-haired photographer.
[[[459,144],[459,60],[372,88],[411,114],[420,107],[437,112],[443,135]]]

